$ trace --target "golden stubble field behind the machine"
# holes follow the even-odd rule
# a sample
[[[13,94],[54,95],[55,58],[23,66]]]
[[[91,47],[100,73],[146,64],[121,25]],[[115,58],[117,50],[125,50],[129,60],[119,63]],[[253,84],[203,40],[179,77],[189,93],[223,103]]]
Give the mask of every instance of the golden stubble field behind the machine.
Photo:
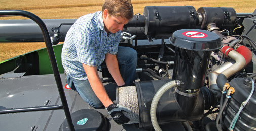
[[[85,14],[100,11],[104,0],[1,0],[0,10],[26,10],[41,19],[77,19]],[[143,14],[145,6],[194,6],[200,7],[232,7],[236,12],[253,12],[256,1],[179,1],[179,0],[132,0],[134,13]],[[24,17],[0,17],[3,19],[26,19]],[[1,24],[1,22],[0,22]],[[0,28],[1,29],[1,28]],[[63,42],[62,42],[63,43]],[[44,48],[44,43],[0,43],[0,61],[14,56]]]

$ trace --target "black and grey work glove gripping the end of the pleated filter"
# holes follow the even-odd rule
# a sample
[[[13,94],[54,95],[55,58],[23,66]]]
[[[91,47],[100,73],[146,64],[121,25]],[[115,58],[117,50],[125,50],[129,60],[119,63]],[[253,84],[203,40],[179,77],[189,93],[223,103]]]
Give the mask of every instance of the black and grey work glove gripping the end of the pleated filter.
[[[130,121],[129,118],[127,118],[122,111],[131,112],[131,109],[119,105],[119,104],[111,104],[109,105],[106,110],[108,111],[108,113],[110,114],[110,116],[113,118],[113,120],[117,123],[117,124],[125,124],[128,123]]]

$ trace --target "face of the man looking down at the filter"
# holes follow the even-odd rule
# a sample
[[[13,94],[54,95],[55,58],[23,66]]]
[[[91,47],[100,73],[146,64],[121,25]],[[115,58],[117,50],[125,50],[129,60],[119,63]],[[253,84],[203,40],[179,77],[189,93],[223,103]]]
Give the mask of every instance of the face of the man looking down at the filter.
[[[103,12],[103,21],[104,21],[104,27],[105,31],[116,33],[119,30],[123,30],[123,27],[125,24],[129,22],[128,19],[122,18],[121,16],[112,16],[108,13],[107,10],[104,10]]]

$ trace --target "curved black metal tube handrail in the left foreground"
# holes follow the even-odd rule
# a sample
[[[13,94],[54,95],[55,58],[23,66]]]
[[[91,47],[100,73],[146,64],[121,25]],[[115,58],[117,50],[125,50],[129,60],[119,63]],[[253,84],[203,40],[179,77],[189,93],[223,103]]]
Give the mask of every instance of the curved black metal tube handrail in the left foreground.
[[[63,85],[62,85],[62,82],[61,82],[61,78],[60,78],[60,74],[59,74],[59,70],[58,70],[58,65],[57,65],[57,62],[56,62],[56,59],[55,59],[55,54],[54,54],[53,47],[52,47],[52,42],[51,42],[51,39],[50,39],[50,34],[47,30],[47,27],[46,27],[45,23],[42,21],[42,19],[40,19],[35,14],[27,12],[27,11],[23,11],[23,10],[0,10],[0,16],[23,16],[23,17],[27,17],[27,18],[32,19],[36,24],[39,25],[39,27],[40,27],[40,29],[43,33],[43,37],[44,37],[45,44],[46,44],[46,49],[47,49],[48,56],[49,56],[49,59],[50,59],[50,62],[51,62],[54,78],[55,78],[55,81],[56,81],[56,84],[57,84],[57,87],[58,87],[58,91],[59,91],[59,95],[60,95],[60,99],[61,99],[61,102],[62,102],[64,112],[65,112],[65,115],[66,115],[67,123],[68,123],[69,129],[74,131],[75,128],[74,128],[74,125],[72,124],[72,118],[71,118],[71,114],[69,112],[66,96],[65,96]],[[45,110],[43,107],[41,107],[42,110],[40,110],[40,108],[32,109],[32,107],[27,107],[27,108],[22,108],[22,109],[23,110],[29,109],[29,111],[43,111],[43,110]],[[60,108],[56,108],[56,109],[60,109]],[[55,109],[53,108],[53,110],[55,110]],[[2,110],[2,111],[5,112],[5,110]]]

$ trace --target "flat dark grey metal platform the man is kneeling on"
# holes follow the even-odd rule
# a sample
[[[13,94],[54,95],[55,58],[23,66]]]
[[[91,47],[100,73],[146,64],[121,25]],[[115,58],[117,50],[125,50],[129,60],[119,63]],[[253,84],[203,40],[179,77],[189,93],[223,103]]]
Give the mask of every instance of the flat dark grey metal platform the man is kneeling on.
[[[76,91],[65,88],[65,75],[60,74],[60,76],[70,113],[82,109],[94,109]],[[104,83],[104,86],[109,97],[114,101],[116,84]],[[61,104],[52,74],[0,79],[0,96],[0,110]],[[143,130],[138,129],[136,124],[116,124],[104,108],[95,110],[109,119],[110,130]],[[64,120],[63,110],[0,114],[0,130],[59,130]],[[177,126],[177,123],[172,125],[172,128],[175,126]]]

